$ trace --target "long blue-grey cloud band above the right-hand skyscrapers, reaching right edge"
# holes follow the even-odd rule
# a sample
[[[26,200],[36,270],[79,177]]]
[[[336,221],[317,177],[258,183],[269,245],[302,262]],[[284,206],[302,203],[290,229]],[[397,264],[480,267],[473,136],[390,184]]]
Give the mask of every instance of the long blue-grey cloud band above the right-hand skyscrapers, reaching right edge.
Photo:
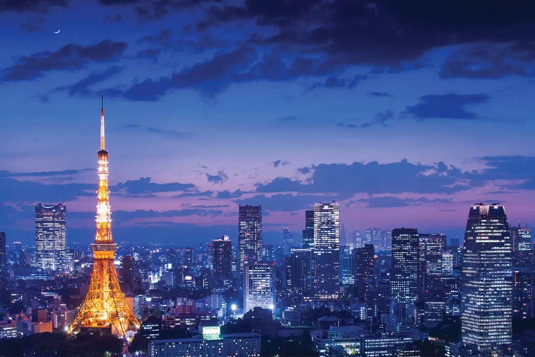
[[[337,199],[355,193],[455,193],[481,187],[486,182],[504,180],[510,189],[535,188],[535,158],[532,156],[485,156],[481,161],[488,166],[481,172],[461,171],[442,161],[434,165],[412,164],[407,160],[379,164],[320,164],[301,168],[312,173],[303,183],[278,177],[267,183],[258,183],[257,192],[337,193]],[[336,178],[336,179],[333,179]]]

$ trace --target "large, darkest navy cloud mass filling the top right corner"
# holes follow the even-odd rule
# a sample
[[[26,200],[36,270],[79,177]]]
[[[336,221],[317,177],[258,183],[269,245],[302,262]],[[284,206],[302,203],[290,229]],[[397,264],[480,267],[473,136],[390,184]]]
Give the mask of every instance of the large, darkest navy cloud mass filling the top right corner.
[[[531,40],[533,1],[271,1],[212,6],[197,29],[252,20],[273,46],[326,54],[329,64],[392,66],[429,49],[479,41]]]

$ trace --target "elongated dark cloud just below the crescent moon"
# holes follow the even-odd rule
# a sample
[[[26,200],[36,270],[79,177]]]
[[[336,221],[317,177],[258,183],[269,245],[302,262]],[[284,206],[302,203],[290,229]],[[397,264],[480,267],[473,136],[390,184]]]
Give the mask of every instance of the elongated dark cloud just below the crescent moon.
[[[37,79],[54,70],[81,69],[91,62],[116,59],[126,49],[126,42],[104,40],[92,46],[68,44],[57,51],[43,51],[24,56],[1,71],[3,81]]]

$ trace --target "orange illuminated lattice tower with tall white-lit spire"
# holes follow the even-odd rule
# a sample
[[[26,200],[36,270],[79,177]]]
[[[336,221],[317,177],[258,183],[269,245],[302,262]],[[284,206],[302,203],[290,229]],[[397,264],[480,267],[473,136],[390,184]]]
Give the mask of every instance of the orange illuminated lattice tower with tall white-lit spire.
[[[91,283],[80,311],[68,333],[106,329],[125,337],[126,331],[138,329],[139,322],[127,305],[114,265],[117,244],[111,236],[110,191],[108,188],[108,151],[104,139],[104,103],[101,108],[101,149],[98,151],[98,200]]]

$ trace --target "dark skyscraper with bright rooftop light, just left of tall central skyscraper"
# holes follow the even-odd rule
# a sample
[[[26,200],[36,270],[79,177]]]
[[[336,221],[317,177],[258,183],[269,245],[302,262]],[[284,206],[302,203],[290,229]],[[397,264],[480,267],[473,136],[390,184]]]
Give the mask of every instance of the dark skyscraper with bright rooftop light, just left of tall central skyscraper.
[[[228,236],[212,241],[213,290],[225,291],[232,284],[232,243]]]

